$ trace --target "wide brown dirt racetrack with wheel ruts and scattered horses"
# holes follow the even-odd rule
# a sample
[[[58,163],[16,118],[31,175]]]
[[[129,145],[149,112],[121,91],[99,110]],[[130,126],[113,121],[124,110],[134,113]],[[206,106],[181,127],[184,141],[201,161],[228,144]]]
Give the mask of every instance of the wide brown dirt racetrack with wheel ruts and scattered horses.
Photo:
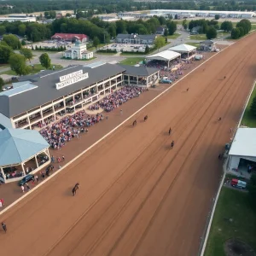
[[[196,255],[218,188],[218,154],[255,78],[255,40],[207,61],[139,113],[136,127],[125,123],[4,213],[1,254]]]

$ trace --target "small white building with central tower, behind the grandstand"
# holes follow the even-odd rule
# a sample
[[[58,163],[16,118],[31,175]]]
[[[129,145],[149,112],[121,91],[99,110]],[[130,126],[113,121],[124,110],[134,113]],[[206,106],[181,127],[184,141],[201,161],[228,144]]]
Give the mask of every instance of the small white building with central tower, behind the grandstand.
[[[76,41],[71,49],[67,49],[63,52],[63,57],[72,60],[90,60],[93,58],[93,52],[87,50],[86,44],[81,44],[81,42]]]

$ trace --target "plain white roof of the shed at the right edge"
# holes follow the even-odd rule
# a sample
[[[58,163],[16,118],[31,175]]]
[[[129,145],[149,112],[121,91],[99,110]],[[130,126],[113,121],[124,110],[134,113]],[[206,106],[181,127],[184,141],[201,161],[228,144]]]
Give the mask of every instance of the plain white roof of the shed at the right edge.
[[[256,157],[256,128],[239,128],[229,154]]]

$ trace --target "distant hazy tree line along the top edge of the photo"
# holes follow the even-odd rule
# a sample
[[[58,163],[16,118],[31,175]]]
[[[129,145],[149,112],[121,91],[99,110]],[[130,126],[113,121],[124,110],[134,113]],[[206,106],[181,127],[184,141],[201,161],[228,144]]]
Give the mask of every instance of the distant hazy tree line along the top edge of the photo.
[[[110,14],[113,12],[124,12],[146,9],[195,9],[195,10],[256,10],[255,0],[246,1],[173,1],[173,2],[133,2],[131,0],[13,0],[4,2],[13,5],[13,9],[3,7],[0,15],[30,14],[32,12],[72,9],[75,11],[87,10],[90,14]],[[96,11],[95,11],[96,10]]]

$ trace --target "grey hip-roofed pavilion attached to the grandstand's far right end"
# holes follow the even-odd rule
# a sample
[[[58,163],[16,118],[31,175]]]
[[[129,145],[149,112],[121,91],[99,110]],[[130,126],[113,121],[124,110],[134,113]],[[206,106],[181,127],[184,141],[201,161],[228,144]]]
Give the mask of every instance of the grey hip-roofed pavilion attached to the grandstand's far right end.
[[[135,67],[121,64],[119,64],[119,66],[125,68],[124,84],[149,87],[159,80],[160,70],[157,68],[144,66]]]

